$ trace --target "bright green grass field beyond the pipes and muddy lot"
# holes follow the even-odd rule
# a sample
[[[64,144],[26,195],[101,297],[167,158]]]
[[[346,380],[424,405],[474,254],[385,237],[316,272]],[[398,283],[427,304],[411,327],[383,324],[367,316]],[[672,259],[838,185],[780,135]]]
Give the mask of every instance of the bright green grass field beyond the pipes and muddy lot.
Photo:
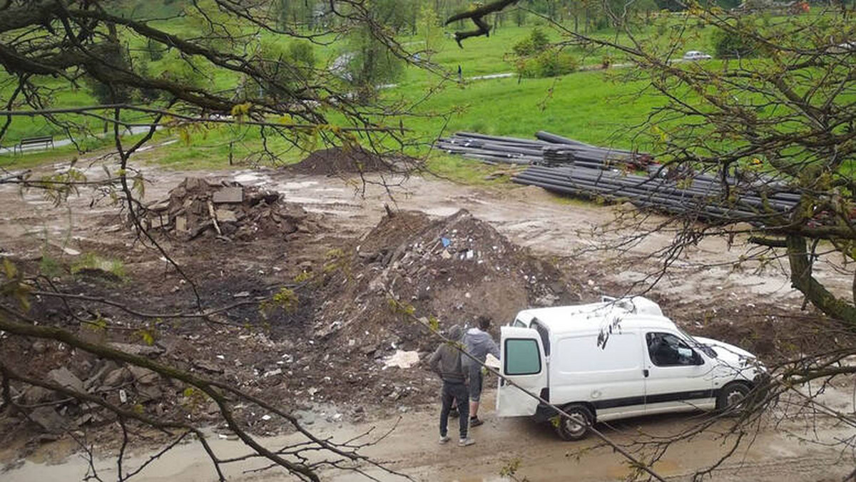
[[[676,19],[670,28],[687,27],[687,50],[708,50],[709,30],[685,26]],[[170,30],[176,32],[192,29],[193,25],[177,22],[170,24]],[[561,39],[560,33],[550,27],[540,27],[548,33],[552,41]],[[694,28],[694,29],[693,29]],[[663,42],[663,27],[645,27],[639,33],[641,37],[653,43]],[[639,137],[637,126],[645,122],[651,108],[661,104],[663,99],[651,94],[636,95],[643,92],[647,83],[644,80],[624,82],[617,80],[621,68],[609,70],[589,70],[567,74],[550,79],[522,79],[516,77],[491,80],[456,81],[457,67],[460,65],[465,78],[513,71],[506,57],[515,43],[528,36],[532,26],[502,27],[492,33],[490,38],[468,39],[464,48],[455,41],[443,39],[437,54],[431,59],[452,74],[452,80],[443,80],[442,75],[431,74],[423,69],[409,67],[394,88],[382,92],[384,100],[413,103],[425,97],[425,92],[436,90],[424,102],[419,102],[413,110],[417,116],[405,117],[404,125],[411,130],[413,137],[419,140],[421,147],[411,148],[407,153],[424,155],[428,146],[437,136],[452,134],[455,131],[472,131],[483,134],[513,135],[532,138],[538,130],[547,130],[574,139],[621,148],[639,148],[645,150],[646,138]],[[603,31],[594,34],[603,39],[626,41],[623,35]],[[419,37],[401,39],[402,44],[413,43],[418,47]],[[134,39],[131,39],[134,44]],[[138,42],[139,43],[139,42]],[[614,56],[608,50],[586,51],[580,47],[568,47],[567,50],[580,59],[583,66],[593,66],[601,62],[604,55]],[[316,48],[316,57],[321,62],[329,62],[342,51],[341,46],[330,45]],[[614,57],[613,62],[621,62]],[[175,62],[165,57],[158,62],[150,62],[150,74],[166,74],[174,68]],[[217,72],[209,79],[217,89],[234,88],[237,80],[229,72]],[[8,94],[0,90],[0,94]],[[2,96],[0,96],[2,97]],[[56,97],[56,106],[74,106],[97,104],[86,88],[60,92]],[[335,122],[335,119],[334,121]],[[100,130],[98,122],[89,122],[92,130]],[[397,120],[395,121],[397,125]],[[64,137],[54,126],[39,119],[19,118],[12,124],[3,144],[10,146],[21,137],[54,134]],[[159,136],[168,135],[164,132]],[[211,128],[193,129],[187,136],[187,142],[175,143],[158,150],[158,155],[147,154],[144,158],[157,161],[164,166],[176,169],[209,169],[229,166],[229,157],[239,164],[266,164],[270,158],[253,155],[258,152],[261,138],[258,131],[241,126],[218,125]],[[92,141],[92,148],[102,146],[100,141]],[[270,140],[270,150],[276,153],[278,162],[291,163],[304,157],[306,152],[294,148],[286,140]],[[56,154],[65,156],[69,148],[57,149]],[[464,180],[476,180],[483,175],[473,172],[467,175],[461,169],[472,161],[453,162],[451,157],[431,154],[431,166],[446,171],[449,176]],[[56,156],[54,156],[56,157]],[[0,165],[18,167],[25,164],[38,164],[42,159],[52,158],[50,152],[28,153],[18,158],[0,155]],[[451,164],[449,164],[451,163]],[[443,169],[449,164],[449,169]]]

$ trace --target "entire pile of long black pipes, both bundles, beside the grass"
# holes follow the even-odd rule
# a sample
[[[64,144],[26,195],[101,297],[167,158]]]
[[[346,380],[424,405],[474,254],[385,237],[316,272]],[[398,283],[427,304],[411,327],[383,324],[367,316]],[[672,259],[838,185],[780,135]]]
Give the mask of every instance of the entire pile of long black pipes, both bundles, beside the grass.
[[[800,199],[798,193],[769,179],[730,176],[723,181],[720,176],[692,173],[664,176],[663,165],[653,163],[645,153],[591,146],[544,131],[535,137],[456,133],[439,140],[437,147],[482,162],[530,164],[512,179],[519,184],[588,199],[628,201],[714,223],[740,219],[764,224],[792,211]]]

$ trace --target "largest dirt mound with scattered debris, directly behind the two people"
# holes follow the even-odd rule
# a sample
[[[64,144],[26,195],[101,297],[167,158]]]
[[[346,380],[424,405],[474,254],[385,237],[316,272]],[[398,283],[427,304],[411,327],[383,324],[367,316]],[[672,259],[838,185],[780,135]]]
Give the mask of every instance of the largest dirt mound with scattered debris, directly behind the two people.
[[[349,253],[329,259],[324,272],[327,302],[316,335],[375,356],[436,343],[391,310],[390,298],[419,316],[437,316],[441,326],[488,315],[495,327],[527,306],[579,300],[554,265],[464,210],[440,219],[420,212],[384,217]]]

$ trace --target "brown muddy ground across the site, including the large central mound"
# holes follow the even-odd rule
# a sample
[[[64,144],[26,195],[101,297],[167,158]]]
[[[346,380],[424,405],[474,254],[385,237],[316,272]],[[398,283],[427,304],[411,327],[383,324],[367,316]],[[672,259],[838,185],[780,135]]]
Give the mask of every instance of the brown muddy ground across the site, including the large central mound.
[[[57,164],[44,171],[63,168]],[[640,261],[637,256],[665,246],[669,235],[653,235],[633,247],[629,258],[620,258],[591,250],[608,241],[593,235],[591,229],[614,217],[615,208],[609,206],[568,204],[534,187],[486,189],[430,177],[407,179],[394,191],[395,198],[389,199],[382,187],[355,188],[353,179],[326,176],[329,173],[319,169],[313,164],[310,172],[317,174],[238,170],[205,176],[211,183],[238,182],[280,193],[281,202],[292,206],[288,212],[299,211],[300,215],[289,221],[287,229],[281,220],[275,220],[257,235],[241,237],[207,229],[188,239],[163,229],[158,241],[191,275],[193,283],[183,280],[159,253],[136,241],[121,213],[106,199],[92,204],[91,193],[72,196],[57,207],[39,193],[0,187],[0,253],[29,274],[44,271],[49,261],[56,270],[50,278],[57,288],[109,297],[138,310],[193,309],[194,290],[206,306],[247,301],[219,315],[222,318],[215,318],[214,324],[152,327],[148,336],[153,340],[141,339],[139,330],[104,335],[69,318],[68,310],[57,301],[39,300],[34,310],[83,336],[147,349],[152,358],[223,378],[254,394],[288,401],[300,420],[324,433],[348,433],[367,422],[389,425],[390,420],[403,416],[398,431],[403,435],[371,450],[379,450],[382,458],[420,479],[431,479],[430,474],[441,468],[439,479],[494,479],[501,461],[515,457],[524,459],[521,473],[528,473],[532,480],[556,479],[553,470],[559,464],[552,459],[564,459],[568,447],[557,444],[544,427],[496,420],[490,410],[490,423],[472,451],[474,461],[468,460],[472,455],[464,457],[455,449],[435,447],[430,410],[438,384],[424,363],[435,342],[418,325],[408,324],[390,311],[389,298],[412,305],[420,316],[437,316],[441,326],[472,322],[482,313],[490,314],[495,324],[504,324],[526,306],[623,294],[632,289],[633,281],[657,269],[656,259]],[[87,170],[93,179],[100,173],[97,165]],[[146,200],[155,202],[168,199],[171,189],[199,173],[148,167],[144,176]],[[389,173],[383,176],[389,179]],[[703,241],[685,253],[669,276],[647,295],[691,333],[733,342],[766,360],[823,342],[817,326],[794,318],[794,313],[805,313],[800,312],[802,301],[781,271],[770,267],[753,271],[752,266],[735,270],[730,265],[740,249],[745,247],[739,242],[729,247],[722,240]],[[102,259],[120,259],[122,277],[99,270],[70,272],[81,258],[93,253]],[[819,272],[833,286],[849,283],[823,267]],[[288,310],[263,312],[253,303],[283,286],[293,288],[299,300]],[[116,309],[93,313],[73,306],[71,311],[79,318],[107,318],[113,326],[131,323],[127,314]],[[20,356],[13,363],[22,370],[48,372],[68,366],[81,381],[101,387],[98,390],[111,401],[119,400],[122,389],[132,403],[152,414],[189,416],[202,423],[214,420],[212,408],[189,403],[180,386],[163,380],[150,383],[140,374],[122,372],[121,366],[105,366],[85,354],[69,354],[59,345],[2,342],[4,353]],[[415,352],[420,362],[409,368],[387,366],[385,362],[401,352]],[[106,384],[104,378],[116,371],[122,375],[120,382]],[[841,403],[842,409],[853,411],[847,402]],[[68,408],[62,416],[73,420],[80,431],[92,434],[102,449],[115,447],[116,433],[110,431],[109,418],[86,417],[85,410],[78,407]],[[262,416],[250,410],[239,412],[240,420],[254,433],[273,437],[282,431],[275,420]],[[681,418],[648,418],[615,425],[615,434],[629,437],[628,432],[638,427],[676,430],[680,426]],[[799,431],[795,425],[793,428]],[[226,433],[216,425],[212,430]],[[830,428],[826,435],[835,435],[835,430]],[[776,454],[786,454],[794,464],[793,470],[783,469],[791,470],[788,477],[821,478],[815,472],[816,461],[834,455],[818,457],[816,449],[800,448],[800,443],[784,433],[779,428],[764,431],[762,441],[774,450],[765,452],[758,450],[758,444],[754,446],[750,458],[753,467],[758,467],[758,476]],[[526,443],[518,440],[521,434]],[[24,420],[2,420],[0,436],[7,447],[0,459],[5,467],[23,464],[18,472],[9,472],[17,479],[35,476],[39,467],[50,473],[49,467],[33,461],[63,461],[74,450],[68,437],[46,436],[39,426]],[[407,437],[407,443],[395,437]],[[711,440],[687,443],[681,449],[684,452],[670,455],[674,467],[664,470],[687,473],[694,462],[706,463],[707,452],[718,446]],[[698,455],[699,450],[705,455],[687,459],[687,454]],[[29,461],[21,457],[29,457]],[[468,463],[473,467],[467,467]],[[181,479],[187,479],[196,465],[178,463],[167,472],[175,469],[178,472],[170,477],[181,474]],[[620,459],[606,451],[586,455],[574,467],[586,479],[621,478],[624,473]]]

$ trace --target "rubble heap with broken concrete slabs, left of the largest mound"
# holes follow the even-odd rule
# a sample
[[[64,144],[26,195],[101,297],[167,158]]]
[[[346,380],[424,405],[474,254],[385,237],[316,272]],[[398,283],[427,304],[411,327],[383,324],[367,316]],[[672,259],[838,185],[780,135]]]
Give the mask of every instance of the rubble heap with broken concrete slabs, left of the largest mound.
[[[253,241],[259,235],[291,235],[317,228],[300,205],[283,201],[276,191],[197,177],[187,177],[169,191],[169,199],[148,206],[146,223],[149,229],[167,231],[185,241],[200,235]]]

